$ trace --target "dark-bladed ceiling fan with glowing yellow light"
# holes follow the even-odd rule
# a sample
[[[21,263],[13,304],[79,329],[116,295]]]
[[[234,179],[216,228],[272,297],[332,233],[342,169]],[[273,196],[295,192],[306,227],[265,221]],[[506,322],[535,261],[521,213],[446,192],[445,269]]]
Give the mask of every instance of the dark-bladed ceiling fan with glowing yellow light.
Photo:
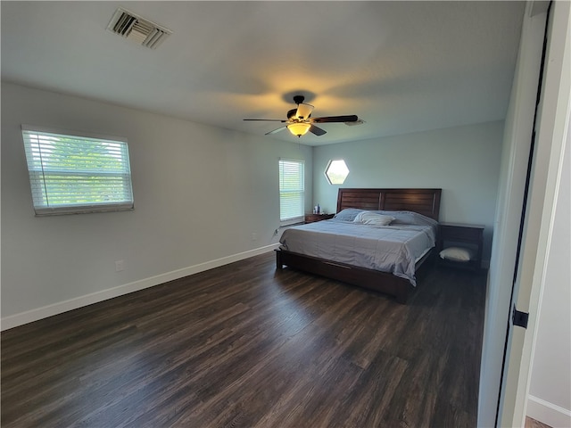
[[[312,118],[311,111],[313,111],[313,106],[311,104],[303,103],[305,97],[303,95],[295,95],[294,103],[297,104],[297,108],[287,111],[287,119],[244,119],[244,120],[263,120],[267,122],[282,122],[286,123],[281,128],[274,129],[266,133],[266,136],[270,134],[276,134],[277,132],[287,128],[294,134],[294,136],[304,136],[308,133],[314,134],[316,136],[322,136],[327,134],[325,129],[316,127],[315,123],[332,123],[332,122],[357,122],[359,118],[352,114],[348,116],[327,116],[325,118]]]

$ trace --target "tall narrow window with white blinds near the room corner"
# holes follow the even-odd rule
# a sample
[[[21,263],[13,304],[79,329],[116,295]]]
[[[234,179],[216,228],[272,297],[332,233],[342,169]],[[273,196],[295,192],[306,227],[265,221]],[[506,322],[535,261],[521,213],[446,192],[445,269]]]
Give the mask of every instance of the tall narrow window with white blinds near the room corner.
[[[279,220],[282,226],[303,221],[303,161],[279,160]]]

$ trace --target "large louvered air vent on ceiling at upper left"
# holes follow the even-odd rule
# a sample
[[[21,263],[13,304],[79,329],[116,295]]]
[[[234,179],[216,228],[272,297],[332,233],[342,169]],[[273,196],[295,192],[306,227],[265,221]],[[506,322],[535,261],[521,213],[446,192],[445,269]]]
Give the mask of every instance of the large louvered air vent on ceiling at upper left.
[[[165,38],[172,34],[170,29],[165,29],[121,8],[113,14],[107,29],[151,49],[156,49]]]

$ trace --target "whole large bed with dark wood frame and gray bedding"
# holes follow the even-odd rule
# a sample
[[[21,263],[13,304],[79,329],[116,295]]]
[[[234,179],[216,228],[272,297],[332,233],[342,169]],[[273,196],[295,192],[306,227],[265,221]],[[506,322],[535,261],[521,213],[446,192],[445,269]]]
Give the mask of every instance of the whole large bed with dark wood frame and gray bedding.
[[[347,284],[358,285],[376,292],[383,292],[393,296],[398,302],[406,303],[410,293],[414,290],[418,281],[426,274],[434,260],[434,242],[436,226],[440,211],[440,199],[442,189],[339,189],[337,195],[337,214],[335,218],[324,220],[308,225],[294,226],[284,231],[280,238],[281,246],[276,251],[277,268],[284,266],[310,272],[319,276],[326,276]],[[385,239],[386,243],[392,243],[404,239],[410,242],[413,238],[412,232],[407,231],[404,223],[396,220],[396,225],[376,227],[359,227],[351,225],[351,217],[357,216],[363,210],[367,214],[360,217],[371,218],[373,216],[391,216],[393,218],[409,216],[413,218],[426,218],[426,223],[431,225],[434,231],[434,240],[427,243],[416,243],[416,247],[426,245],[426,248],[414,248],[413,250],[402,250],[407,253],[407,260],[404,265],[396,268],[384,266],[388,257],[384,252],[385,243],[381,242],[382,236],[377,236],[377,229],[386,231],[389,234]],[[404,212],[403,212],[404,211]],[[408,214],[407,214],[408,212]],[[369,214],[370,213],[370,214]],[[415,215],[420,214],[420,216]],[[341,216],[341,218],[340,218]],[[346,221],[343,221],[346,220]],[[428,221],[430,220],[430,221]],[[342,228],[337,229],[338,226]],[[414,225],[417,226],[417,225]],[[421,229],[420,226],[417,227]],[[399,232],[393,232],[398,229]],[[353,234],[353,231],[358,231]],[[429,232],[417,231],[420,235],[430,235]],[[354,236],[352,236],[354,235]],[[375,236],[372,236],[375,235]],[[404,238],[397,235],[404,235]],[[295,239],[294,239],[295,238]],[[361,238],[368,238],[368,243],[360,243],[361,250],[367,247],[371,253],[361,252],[359,255],[344,254],[343,242],[352,245],[353,242]],[[423,237],[424,241],[426,237]],[[371,240],[375,240],[374,242]],[[416,238],[414,238],[416,239]],[[299,243],[294,243],[299,241]],[[306,240],[306,247],[301,241]],[[431,241],[431,240],[428,240]],[[404,245],[404,243],[402,244]],[[408,245],[408,243],[407,243]],[[306,250],[310,248],[311,250]],[[391,247],[394,248],[394,247]],[[361,251],[360,250],[360,251]],[[389,250],[388,252],[394,252]],[[411,261],[410,258],[413,258]],[[365,259],[365,261],[363,261]],[[369,263],[370,259],[377,262]],[[379,260],[381,260],[379,262]],[[390,260],[389,260],[390,263]]]

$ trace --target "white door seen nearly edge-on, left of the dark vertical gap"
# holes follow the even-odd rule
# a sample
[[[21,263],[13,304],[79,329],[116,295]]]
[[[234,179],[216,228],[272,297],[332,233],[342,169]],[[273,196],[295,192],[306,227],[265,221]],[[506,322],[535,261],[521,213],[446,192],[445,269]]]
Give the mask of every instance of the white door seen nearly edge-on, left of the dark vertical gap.
[[[497,424],[506,352],[506,332],[517,263],[519,232],[541,76],[547,7],[525,5],[517,66],[511,88],[501,152],[498,201],[488,270],[484,343],[480,368],[477,424]],[[512,406],[513,407],[513,406]]]

